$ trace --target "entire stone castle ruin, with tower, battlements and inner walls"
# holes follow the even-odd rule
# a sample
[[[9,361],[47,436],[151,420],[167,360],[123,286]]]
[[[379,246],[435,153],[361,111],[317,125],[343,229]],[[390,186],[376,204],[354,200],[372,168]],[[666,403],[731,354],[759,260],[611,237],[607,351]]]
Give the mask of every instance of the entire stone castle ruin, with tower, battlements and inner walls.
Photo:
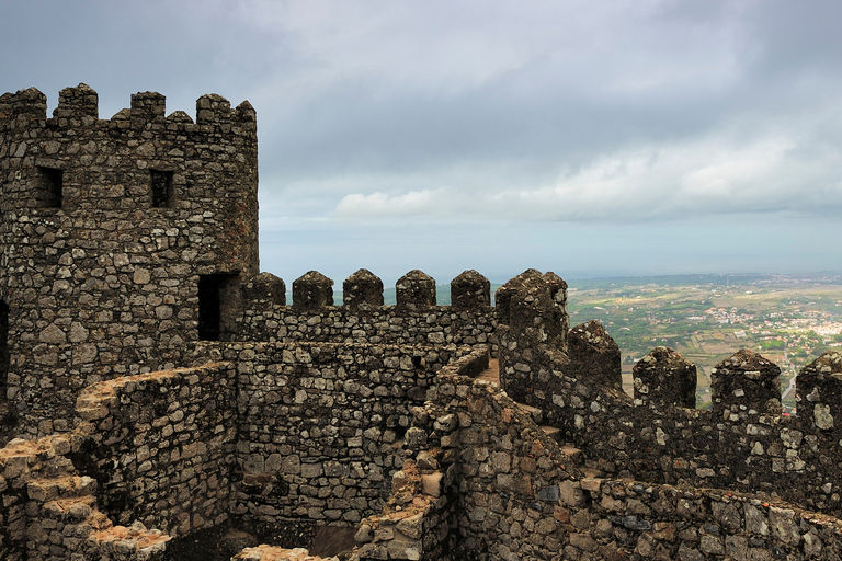
[[[474,271],[451,306],[420,271],[384,306],[366,270],[333,306],[310,272],[287,305],[259,273],[248,102],[205,95],[195,123],[157,93],[96,105],[84,84],[49,118],[37,90],[0,96],[0,416],[30,438],[0,449],[0,558],[177,560],[230,527],[332,525],[361,561],[840,559],[842,356],[799,374],[797,417],[746,351],[697,411],[663,347],[625,394],[553,273],[491,307]],[[499,386],[476,379],[498,355]]]

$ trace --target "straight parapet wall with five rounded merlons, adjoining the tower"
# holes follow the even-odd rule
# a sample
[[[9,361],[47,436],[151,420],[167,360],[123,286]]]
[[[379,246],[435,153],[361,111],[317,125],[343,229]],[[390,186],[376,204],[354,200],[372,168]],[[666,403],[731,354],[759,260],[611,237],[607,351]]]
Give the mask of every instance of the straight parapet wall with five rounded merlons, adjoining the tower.
[[[435,280],[420,271],[398,279],[397,305],[383,305],[383,282],[360,270],[343,283],[343,305],[333,306],[333,280],[311,271],[286,286],[261,273],[243,288],[243,311],[232,339],[268,342],[373,343],[386,345],[490,345],[497,355],[497,318],[490,283],[466,271],[451,284],[452,305],[435,305]]]

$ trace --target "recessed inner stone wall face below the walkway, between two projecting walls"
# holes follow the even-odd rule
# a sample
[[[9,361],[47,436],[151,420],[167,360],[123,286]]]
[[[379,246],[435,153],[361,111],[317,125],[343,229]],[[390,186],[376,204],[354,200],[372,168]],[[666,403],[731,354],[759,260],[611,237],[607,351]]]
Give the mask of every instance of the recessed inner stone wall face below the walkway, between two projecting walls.
[[[356,524],[403,466],[412,405],[469,350],[219,343],[237,362],[236,513],[259,525]],[[214,351],[209,351],[214,352]]]

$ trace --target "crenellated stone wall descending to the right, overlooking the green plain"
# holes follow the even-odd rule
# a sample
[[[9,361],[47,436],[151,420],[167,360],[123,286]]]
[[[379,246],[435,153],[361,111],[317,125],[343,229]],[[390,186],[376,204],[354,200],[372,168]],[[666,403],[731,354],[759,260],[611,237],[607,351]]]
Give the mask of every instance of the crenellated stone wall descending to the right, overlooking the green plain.
[[[542,288],[541,280],[533,286]],[[781,414],[777,366],[750,351],[716,367],[712,410],[683,407],[693,393],[686,387],[695,389],[695,367],[665,348],[635,367],[633,399],[621,389],[616,344],[598,324],[571,331],[570,353],[519,327],[536,324],[532,318],[543,313],[533,296],[516,296],[520,317],[500,330],[502,386],[539,408],[594,467],[650,482],[766,493],[842,514],[838,354],[798,375],[797,417]]]

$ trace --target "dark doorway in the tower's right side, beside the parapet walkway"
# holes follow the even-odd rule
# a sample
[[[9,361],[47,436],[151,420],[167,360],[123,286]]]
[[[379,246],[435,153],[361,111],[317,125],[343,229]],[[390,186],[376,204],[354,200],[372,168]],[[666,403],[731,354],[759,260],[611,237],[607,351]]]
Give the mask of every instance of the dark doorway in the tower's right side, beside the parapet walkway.
[[[236,331],[239,274],[198,276],[198,339],[220,341]]]

